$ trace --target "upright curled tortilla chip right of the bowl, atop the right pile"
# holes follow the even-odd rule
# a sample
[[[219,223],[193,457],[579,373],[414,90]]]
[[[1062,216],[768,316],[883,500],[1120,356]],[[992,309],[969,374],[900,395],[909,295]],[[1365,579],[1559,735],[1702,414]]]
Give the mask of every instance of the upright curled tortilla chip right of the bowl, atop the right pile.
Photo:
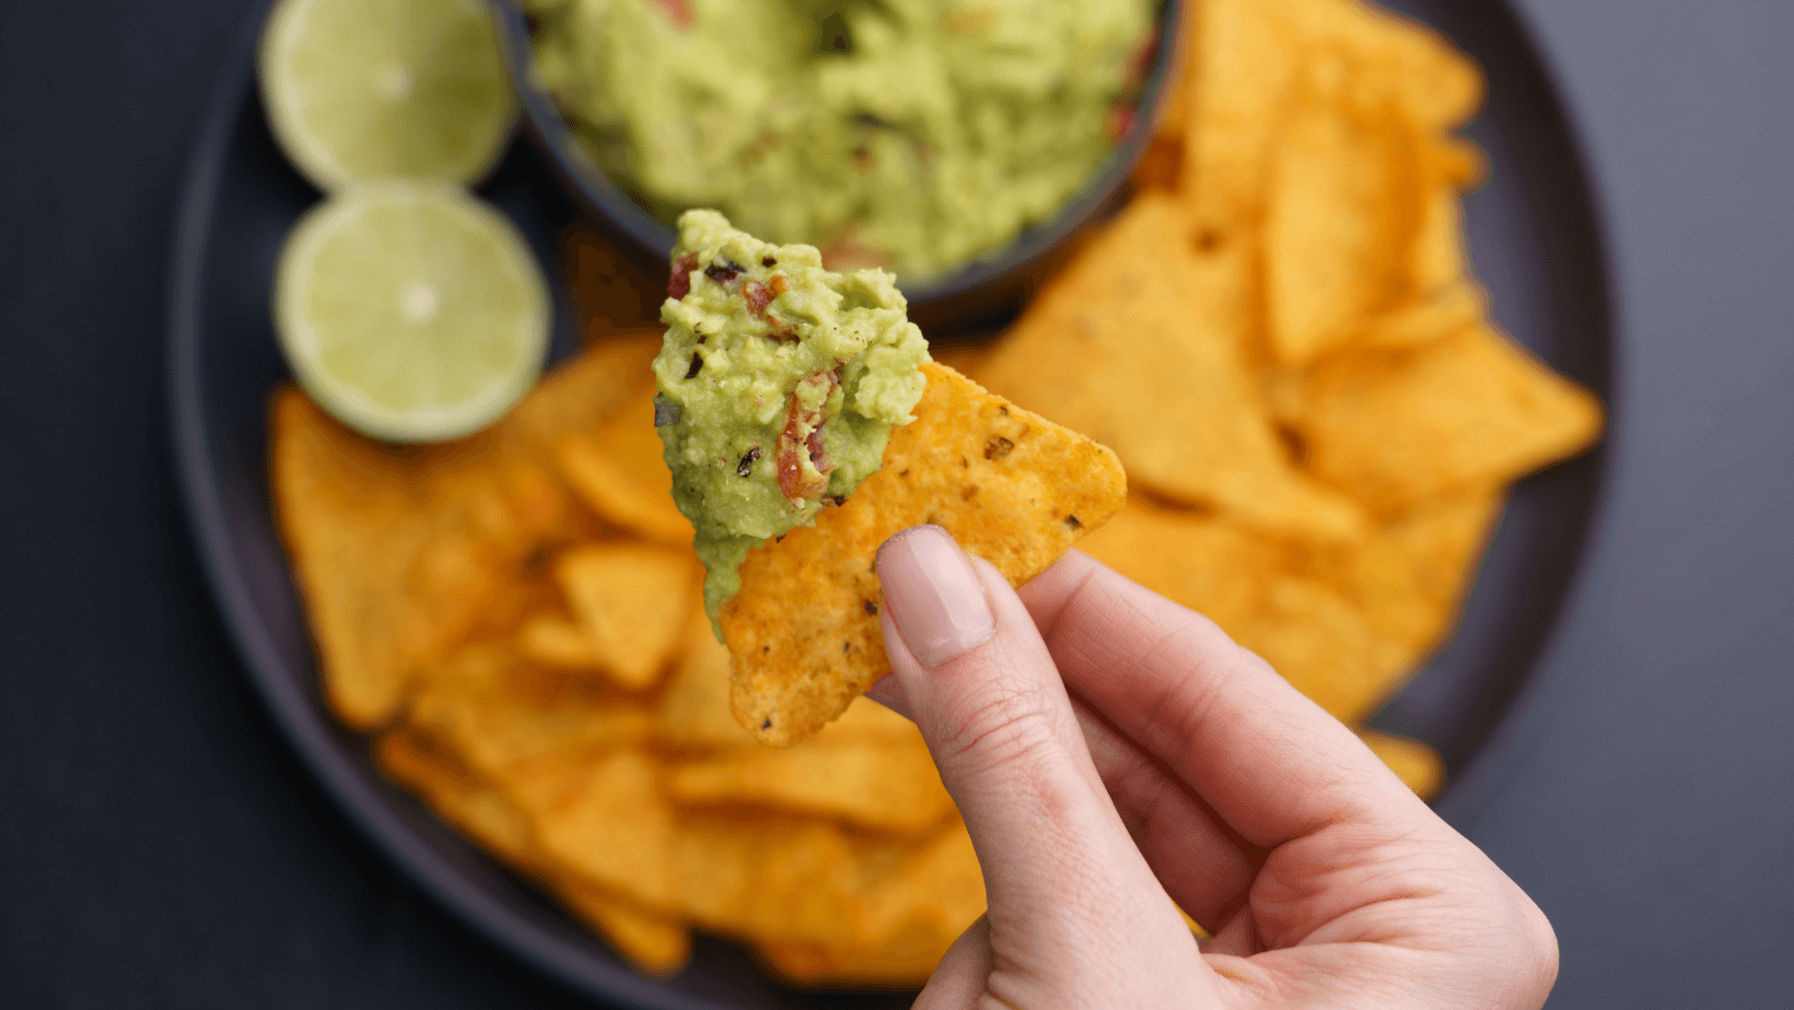
[[[1387,109],[1365,118],[1313,97],[1288,109],[1263,231],[1267,332],[1283,364],[1340,346],[1406,294],[1419,174],[1406,124]]]

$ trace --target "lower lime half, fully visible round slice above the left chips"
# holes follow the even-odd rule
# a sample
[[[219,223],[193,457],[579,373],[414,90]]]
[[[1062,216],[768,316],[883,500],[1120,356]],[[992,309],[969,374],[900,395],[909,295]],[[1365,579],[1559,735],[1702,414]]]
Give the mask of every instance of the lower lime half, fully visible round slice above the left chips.
[[[330,196],[287,235],[274,328],[300,386],[388,441],[445,441],[504,414],[542,371],[549,294],[497,210],[450,183]]]

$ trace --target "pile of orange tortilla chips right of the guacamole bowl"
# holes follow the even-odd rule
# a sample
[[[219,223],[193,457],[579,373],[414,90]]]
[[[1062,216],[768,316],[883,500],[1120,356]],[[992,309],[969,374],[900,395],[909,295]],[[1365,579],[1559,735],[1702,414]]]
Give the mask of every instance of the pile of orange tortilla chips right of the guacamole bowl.
[[[1080,549],[1356,723],[1448,633],[1505,484],[1602,411],[1469,274],[1473,63],[1356,0],[1189,16],[1139,196],[958,364],[1121,457],[1134,497]]]

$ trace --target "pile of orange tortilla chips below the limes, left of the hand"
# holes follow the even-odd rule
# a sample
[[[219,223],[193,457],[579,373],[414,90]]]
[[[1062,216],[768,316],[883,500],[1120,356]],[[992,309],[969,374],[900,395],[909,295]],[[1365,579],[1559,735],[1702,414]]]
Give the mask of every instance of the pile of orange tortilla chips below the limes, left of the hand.
[[[274,499],[327,700],[644,972],[676,971],[701,927],[791,981],[917,983],[983,911],[965,827],[920,734],[872,701],[788,750],[730,714],[653,429],[657,346],[606,339],[441,447],[276,396]]]

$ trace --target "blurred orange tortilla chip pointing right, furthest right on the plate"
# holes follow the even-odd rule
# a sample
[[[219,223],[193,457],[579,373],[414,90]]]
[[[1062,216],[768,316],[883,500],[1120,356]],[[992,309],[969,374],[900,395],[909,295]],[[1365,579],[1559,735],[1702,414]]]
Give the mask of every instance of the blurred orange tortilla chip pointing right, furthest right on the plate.
[[[1410,352],[1329,361],[1310,379],[1313,472],[1380,511],[1494,486],[1600,438],[1600,402],[1487,327]]]

